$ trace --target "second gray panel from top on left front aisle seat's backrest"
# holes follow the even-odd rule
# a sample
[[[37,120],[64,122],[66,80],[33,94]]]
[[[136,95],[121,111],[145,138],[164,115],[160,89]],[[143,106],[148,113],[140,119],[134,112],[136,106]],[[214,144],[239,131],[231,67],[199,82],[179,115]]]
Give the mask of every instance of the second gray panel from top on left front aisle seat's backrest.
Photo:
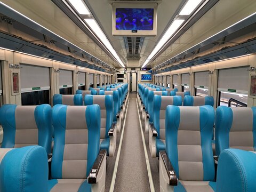
[[[66,130],[65,144],[80,144],[88,143],[88,130]]]

